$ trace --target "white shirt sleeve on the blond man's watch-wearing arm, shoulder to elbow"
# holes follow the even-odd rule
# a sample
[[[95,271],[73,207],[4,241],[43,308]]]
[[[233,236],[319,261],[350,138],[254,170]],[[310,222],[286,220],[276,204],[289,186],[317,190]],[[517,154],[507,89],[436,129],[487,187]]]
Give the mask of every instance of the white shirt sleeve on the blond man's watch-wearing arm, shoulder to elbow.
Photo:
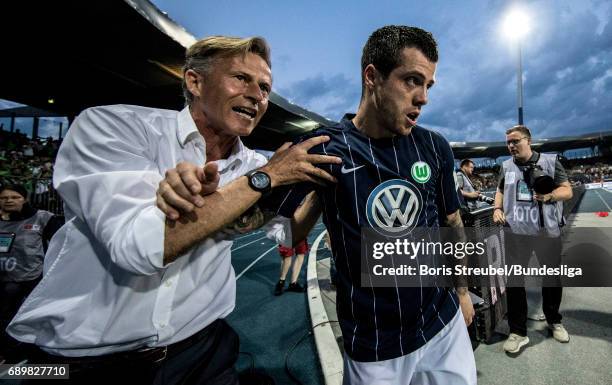
[[[150,156],[151,130],[125,106],[84,110],[64,138],[53,174],[75,223],[114,264],[143,275],[163,268],[164,219],[154,206],[162,177]]]

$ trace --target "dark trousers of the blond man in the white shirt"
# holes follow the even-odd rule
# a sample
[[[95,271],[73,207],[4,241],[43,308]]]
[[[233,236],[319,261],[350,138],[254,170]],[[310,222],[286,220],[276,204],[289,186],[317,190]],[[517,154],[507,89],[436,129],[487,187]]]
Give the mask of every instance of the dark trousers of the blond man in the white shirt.
[[[66,358],[36,348],[28,363],[68,363],[70,380],[57,380],[57,384],[238,384],[234,364],[239,340],[227,322],[217,320],[190,339],[188,344],[169,345],[162,355],[126,352]]]

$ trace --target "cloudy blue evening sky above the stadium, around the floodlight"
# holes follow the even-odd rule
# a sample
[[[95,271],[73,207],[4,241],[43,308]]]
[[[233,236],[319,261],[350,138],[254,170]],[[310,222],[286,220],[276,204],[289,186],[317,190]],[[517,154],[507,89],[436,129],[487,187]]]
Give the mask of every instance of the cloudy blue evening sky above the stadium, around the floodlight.
[[[200,38],[260,35],[272,47],[274,89],[331,119],[355,111],[359,61],[386,24],[431,31],[437,84],[420,124],[449,140],[503,140],[516,123],[516,50],[500,33],[506,11],[531,15],[523,42],[525,123],[534,136],[612,130],[612,2],[196,1],[154,3]]]

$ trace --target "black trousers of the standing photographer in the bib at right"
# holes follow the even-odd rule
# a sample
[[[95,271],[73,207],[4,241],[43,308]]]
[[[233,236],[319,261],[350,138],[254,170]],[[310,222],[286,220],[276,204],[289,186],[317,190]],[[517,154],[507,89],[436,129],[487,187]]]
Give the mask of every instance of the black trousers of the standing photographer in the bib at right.
[[[506,239],[507,255],[509,261],[526,263],[531,257],[531,253],[535,251],[536,257],[539,255],[556,255],[558,259],[553,261],[553,265],[557,266],[561,260],[561,238],[537,238],[525,235],[511,234]],[[540,260],[540,262],[542,262]],[[550,266],[550,258],[547,263]],[[563,288],[560,280],[550,282],[555,286],[542,287],[542,310],[546,316],[546,322],[549,324],[560,323],[561,314],[559,307],[561,306],[561,297]],[[525,287],[507,287],[506,300],[508,304],[508,325],[510,333],[516,333],[520,336],[527,335],[527,293]]]

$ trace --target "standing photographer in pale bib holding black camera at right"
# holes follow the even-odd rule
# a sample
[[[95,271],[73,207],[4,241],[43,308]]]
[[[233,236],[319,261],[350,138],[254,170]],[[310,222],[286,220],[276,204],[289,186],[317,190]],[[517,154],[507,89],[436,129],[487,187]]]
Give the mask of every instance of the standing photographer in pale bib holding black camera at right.
[[[506,144],[512,158],[504,161],[500,172],[493,221],[507,223],[510,235],[506,244],[508,255],[528,261],[532,251],[536,256],[558,255],[561,259],[561,226],[563,201],[572,198],[572,188],[565,169],[555,154],[540,154],[531,149],[531,133],[526,126],[514,126],[506,131]],[[537,235],[544,234],[545,237]],[[569,342],[569,334],[561,324],[562,287],[542,287],[542,310],[553,337]],[[508,324],[510,335],[504,343],[508,353],[518,353],[529,343],[527,337],[527,296],[525,287],[508,287]]]

